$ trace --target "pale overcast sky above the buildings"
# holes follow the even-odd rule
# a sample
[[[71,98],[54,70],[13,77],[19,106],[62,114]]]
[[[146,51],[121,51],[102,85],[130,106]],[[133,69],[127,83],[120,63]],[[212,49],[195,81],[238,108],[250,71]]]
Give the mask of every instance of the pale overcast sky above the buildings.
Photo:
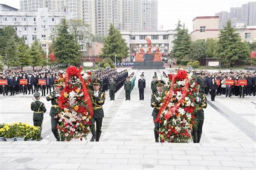
[[[158,0],[158,28],[163,25],[163,30],[175,29],[180,19],[191,32],[195,17],[229,12],[230,7],[241,7],[247,2],[250,0]],[[0,0],[0,3],[19,8],[19,0]]]

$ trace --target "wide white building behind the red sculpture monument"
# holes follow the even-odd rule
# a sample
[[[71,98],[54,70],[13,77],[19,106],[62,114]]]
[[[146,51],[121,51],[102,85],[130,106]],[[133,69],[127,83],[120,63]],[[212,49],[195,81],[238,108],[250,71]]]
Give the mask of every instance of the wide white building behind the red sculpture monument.
[[[139,49],[142,47],[144,52],[147,50],[147,41],[146,37],[151,39],[152,42],[152,52],[155,52],[155,49],[158,47],[162,52],[162,56],[166,56],[173,47],[172,41],[176,31],[174,30],[165,30],[165,31],[124,31],[121,30],[122,38],[125,39],[129,47],[130,58],[132,58],[139,52]]]

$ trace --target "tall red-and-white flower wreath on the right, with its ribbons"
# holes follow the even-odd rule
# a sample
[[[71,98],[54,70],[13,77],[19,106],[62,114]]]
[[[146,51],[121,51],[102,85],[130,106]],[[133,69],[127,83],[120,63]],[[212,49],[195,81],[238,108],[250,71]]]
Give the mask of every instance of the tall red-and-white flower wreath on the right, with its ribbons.
[[[191,131],[197,124],[195,103],[197,83],[192,73],[178,70],[177,74],[169,74],[167,88],[169,91],[162,99],[158,117],[155,122],[160,123],[161,142],[190,142]]]

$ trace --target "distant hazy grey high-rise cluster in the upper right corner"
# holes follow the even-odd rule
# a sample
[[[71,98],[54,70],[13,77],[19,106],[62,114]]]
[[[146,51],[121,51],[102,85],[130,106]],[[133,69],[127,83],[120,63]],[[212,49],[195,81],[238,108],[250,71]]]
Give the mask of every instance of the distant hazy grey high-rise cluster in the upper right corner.
[[[232,7],[230,12],[227,11],[216,13],[219,16],[219,28],[223,28],[226,22],[230,19],[232,27],[237,25],[241,26],[254,26],[256,25],[256,2],[248,2],[243,4],[242,7]]]

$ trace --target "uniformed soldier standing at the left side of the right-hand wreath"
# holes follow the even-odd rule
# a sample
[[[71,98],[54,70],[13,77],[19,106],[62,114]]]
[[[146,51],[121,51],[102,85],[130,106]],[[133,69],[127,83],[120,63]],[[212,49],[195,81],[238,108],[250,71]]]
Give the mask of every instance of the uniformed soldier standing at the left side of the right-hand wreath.
[[[152,115],[151,115],[151,116],[153,116],[153,120],[155,120],[157,118],[157,115],[158,115],[158,112],[160,109],[160,104],[162,103],[162,99],[165,96],[165,92],[163,90],[164,84],[165,84],[165,82],[162,80],[158,80],[155,82],[157,92],[155,92],[151,96],[151,107],[154,107]],[[158,122],[156,122],[156,123],[154,122],[154,125],[155,125],[155,128],[154,128],[155,142],[159,142],[158,130],[160,128],[160,124]]]

